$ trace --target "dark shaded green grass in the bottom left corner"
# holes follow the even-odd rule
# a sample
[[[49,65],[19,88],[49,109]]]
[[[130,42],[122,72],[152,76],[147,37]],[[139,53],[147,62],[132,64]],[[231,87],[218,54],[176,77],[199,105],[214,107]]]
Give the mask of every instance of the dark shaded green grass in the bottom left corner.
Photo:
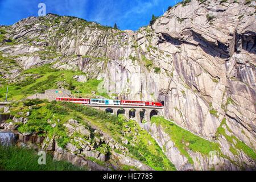
[[[55,161],[46,155],[46,165],[39,165],[40,156],[28,148],[0,146],[0,170],[7,171],[80,171],[81,168],[64,161]]]

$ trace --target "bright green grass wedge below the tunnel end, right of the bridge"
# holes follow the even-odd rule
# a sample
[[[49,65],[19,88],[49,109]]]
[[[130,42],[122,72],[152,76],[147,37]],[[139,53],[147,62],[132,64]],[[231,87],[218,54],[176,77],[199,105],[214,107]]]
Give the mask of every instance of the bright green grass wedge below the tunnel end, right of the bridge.
[[[221,152],[217,143],[197,137],[164,118],[152,117],[151,121],[152,123],[156,123],[157,126],[163,127],[164,131],[170,136],[181,154],[185,155],[191,164],[193,164],[193,160],[191,156],[189,156],[188,150],[200,152],[204,155],[208,155],[210,151]]]

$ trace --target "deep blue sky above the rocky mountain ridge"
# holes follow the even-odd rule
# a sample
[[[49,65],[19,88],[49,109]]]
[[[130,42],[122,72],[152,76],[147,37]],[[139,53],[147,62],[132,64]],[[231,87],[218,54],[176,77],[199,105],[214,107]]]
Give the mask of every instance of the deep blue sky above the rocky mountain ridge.
[[[168,6],[181,0],[0,0],[0,24],[10,25],[28,16],[38,16],[38,4],[46,4],[46,13],[77,16],[121,30],[138,30],[152,14],[163,15]]]

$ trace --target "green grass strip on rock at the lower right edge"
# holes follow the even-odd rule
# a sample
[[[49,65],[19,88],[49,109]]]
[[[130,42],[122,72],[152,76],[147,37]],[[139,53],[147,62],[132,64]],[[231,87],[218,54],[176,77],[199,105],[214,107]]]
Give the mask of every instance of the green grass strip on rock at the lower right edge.
[[[224,136],[226,138],[226,140],[228,140],[228,142],[230,143],[230,148],[229,150],[234,154],[237,155],[237,150],[243,151],[247,156],[249,156],[251,159],[255,160],[256,159],[256,153],[255,150],[253,150],[252,148],[250,148],[249,146],[247,146],[245,143],[243,143],[241,140],[239,140],[237,137],[235,137],[234,135],[227,135],[225,132],[225,129],[223,126],[226,126],[226,129],[232,133],[232,130],[229,129],[228,125],[226,124],[226,118],[222,119],[221,125],[220,127],[218,127],[217,131],[216,131],[216,137],[220,137],[220,135]],[[236,142],[234,142],[236,141]],[[237,150],[235,150],[235,148]]]

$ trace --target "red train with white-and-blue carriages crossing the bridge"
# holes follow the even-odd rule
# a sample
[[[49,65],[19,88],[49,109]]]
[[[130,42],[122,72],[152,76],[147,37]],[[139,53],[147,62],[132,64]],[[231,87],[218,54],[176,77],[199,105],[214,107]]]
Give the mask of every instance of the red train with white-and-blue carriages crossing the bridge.
[[[110,100],[100,98],[65,98],[57,97],[56,101],[73,102],[77,104],[92,104],[92,105],[129,105],[129,106],[154,106],[163,107],[161,102],[152,101],[130,101],[130,100]]]

